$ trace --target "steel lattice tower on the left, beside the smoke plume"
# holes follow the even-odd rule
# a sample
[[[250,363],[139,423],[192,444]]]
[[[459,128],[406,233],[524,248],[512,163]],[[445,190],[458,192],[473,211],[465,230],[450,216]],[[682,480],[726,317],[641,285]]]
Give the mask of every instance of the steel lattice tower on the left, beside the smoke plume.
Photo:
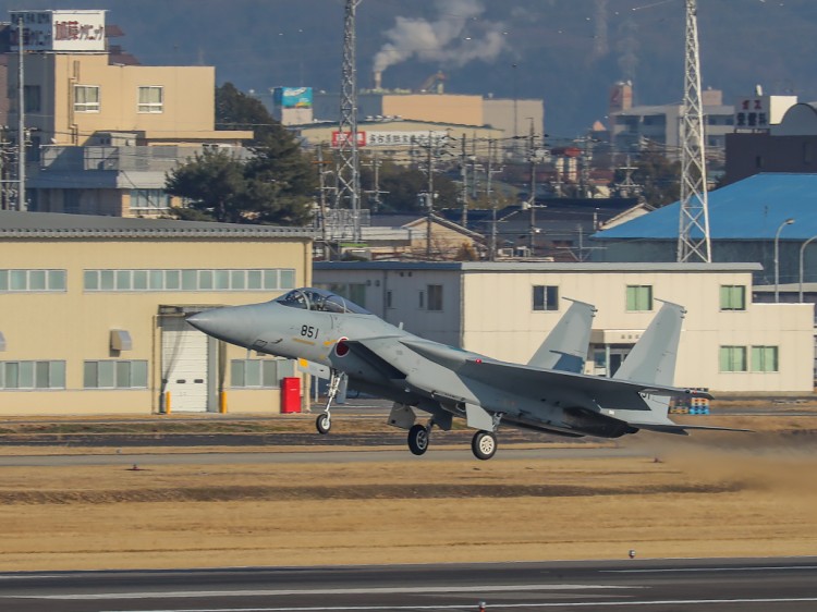
[[[355,65],[355,17],[362,0],[346,0],[343,24],[343,70],[340,123],[338,125],[338,172],[336,209],[349,208],[352,240],[361,241],[361,160],[357,150],[357,68]]]

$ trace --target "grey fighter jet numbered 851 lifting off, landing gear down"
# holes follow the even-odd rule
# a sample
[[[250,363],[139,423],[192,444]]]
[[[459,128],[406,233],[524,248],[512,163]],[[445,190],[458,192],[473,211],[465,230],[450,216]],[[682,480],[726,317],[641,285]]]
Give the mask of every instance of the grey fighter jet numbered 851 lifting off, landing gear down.
[[[205,310],[187,318],[203,332],[253,351],[297,359],[330,380],[318,415],[331,428],[331,405],[346,385],[392,401],[388,423],[408,431],[415,455],[432,427],[453,418],[476,430],[472,451],[489,460],[500,425],[568,437],[619,438],[641,429],[686,434],[668,417],[671,397],[708,393],[672,385],[684,309],[662,306],[614,377],[582,374],[595,308],[573,302],[528,364],[501,362],[425,340],[334,293],[303,287],[263,304]],[[417,412],[428,413],[417,423]]]

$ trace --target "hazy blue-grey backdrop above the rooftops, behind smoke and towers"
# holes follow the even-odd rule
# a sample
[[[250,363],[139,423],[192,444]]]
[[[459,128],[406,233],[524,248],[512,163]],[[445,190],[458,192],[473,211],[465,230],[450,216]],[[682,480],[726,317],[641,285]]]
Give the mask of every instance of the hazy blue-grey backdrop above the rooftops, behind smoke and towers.
[[[107,9],[144,63],[216,65],[245,90],[339,89],[343,0],[0,0],[12,8]],[[375,65],[387,87],[443,70],[451,93],[545,98],[560,135],[603,120],[619,79],[641,103],[682,96],[684,0],[363,0],[357,14],[361,86]],[[815,0],[699,0],[698,20],[704,85],[727,101],[755,84],[817,99]]]

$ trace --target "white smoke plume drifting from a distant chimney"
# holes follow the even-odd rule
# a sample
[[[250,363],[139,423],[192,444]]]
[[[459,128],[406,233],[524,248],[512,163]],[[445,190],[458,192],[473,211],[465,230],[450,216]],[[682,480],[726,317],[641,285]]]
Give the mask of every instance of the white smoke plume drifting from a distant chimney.
[[[411,58],[461,66],[473,60],[491,61],[505,48],[504,26],[479,16],[479,0],[436,0],[439,19],[397,17],[386,32],[389,42],[375,56],[375,72]]]

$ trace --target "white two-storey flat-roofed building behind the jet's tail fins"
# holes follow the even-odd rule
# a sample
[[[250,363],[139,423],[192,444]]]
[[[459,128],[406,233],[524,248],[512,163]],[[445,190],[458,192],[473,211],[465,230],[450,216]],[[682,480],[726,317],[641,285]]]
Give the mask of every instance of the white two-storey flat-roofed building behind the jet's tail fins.
[[[586,371],[608,376],[659,301],[686,307],[675,384],[810,393],[812,304],[752,302],[757,264],[319,262],[315,284],[413,333],[526,363],[569,306],[594,304]]]

